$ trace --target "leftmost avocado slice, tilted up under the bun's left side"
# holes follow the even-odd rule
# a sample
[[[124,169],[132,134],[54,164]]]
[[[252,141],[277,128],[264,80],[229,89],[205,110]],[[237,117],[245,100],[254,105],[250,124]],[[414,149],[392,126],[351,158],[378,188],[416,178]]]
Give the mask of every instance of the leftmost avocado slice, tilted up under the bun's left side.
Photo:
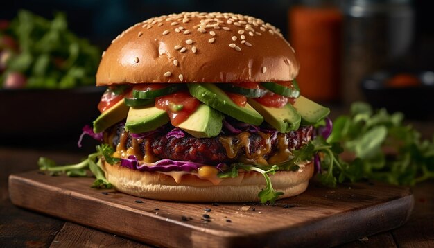
[[[103,132],[112,125],[119,123],[128,115],[128,107],[125,105],[125,100],[120,100],[118,103],[101,113],[94,121],[94,132]]]

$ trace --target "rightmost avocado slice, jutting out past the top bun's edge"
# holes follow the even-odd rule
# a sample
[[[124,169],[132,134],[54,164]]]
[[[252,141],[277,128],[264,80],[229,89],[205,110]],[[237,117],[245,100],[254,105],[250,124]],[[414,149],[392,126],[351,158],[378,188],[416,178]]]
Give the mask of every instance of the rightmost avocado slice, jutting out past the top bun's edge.
[[[303,123],[306,124],[315,124],[330,114],[328,107],[323,107],[304,96],[297,98],[294,107],[300,116],[302,116]]]

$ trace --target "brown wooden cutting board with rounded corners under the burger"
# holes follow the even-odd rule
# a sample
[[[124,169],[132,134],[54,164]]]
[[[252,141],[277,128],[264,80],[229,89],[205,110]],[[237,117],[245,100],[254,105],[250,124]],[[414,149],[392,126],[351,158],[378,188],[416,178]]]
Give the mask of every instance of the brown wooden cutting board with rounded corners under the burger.
[[[401,226],[414,204],[408,188],[372,182],[325,188],[311,181],[302,195],[262,205],[147,200],[89,188],[93,180],[37,171],[10,175],[10,200],[163,247],[339,245]]]

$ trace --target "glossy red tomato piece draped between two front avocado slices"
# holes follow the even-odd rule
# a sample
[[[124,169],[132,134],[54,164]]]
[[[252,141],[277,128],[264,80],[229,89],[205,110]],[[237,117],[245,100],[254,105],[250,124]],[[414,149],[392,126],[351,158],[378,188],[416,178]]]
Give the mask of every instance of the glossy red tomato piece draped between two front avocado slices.
[[[167,112],[175,127],[183,123],[199,106],[199,100],[187,91],[156,98],[155,107]]]

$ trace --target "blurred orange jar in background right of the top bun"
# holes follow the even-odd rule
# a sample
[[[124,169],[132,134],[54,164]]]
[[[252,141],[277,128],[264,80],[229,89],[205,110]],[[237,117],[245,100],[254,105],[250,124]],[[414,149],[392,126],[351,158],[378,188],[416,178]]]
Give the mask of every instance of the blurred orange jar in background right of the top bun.
[[[338,8],[289,10],[290,44],[300,62],[297,82],[312,100],[340,100],[342,14]]]

